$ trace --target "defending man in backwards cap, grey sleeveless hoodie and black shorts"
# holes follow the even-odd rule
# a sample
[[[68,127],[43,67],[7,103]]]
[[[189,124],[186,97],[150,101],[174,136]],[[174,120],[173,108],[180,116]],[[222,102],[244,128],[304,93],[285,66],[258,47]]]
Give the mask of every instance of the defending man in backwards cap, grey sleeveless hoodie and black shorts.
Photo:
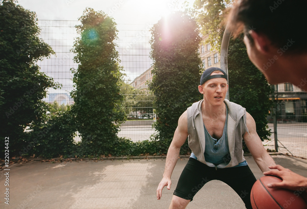
[[[262,172],[275,165],[256,132],[254,118],[242,106],[225,99],[227,89],[226,73],[220,68],[208,68],[198,86],[204,99],[188,107],[178,120],[163,178],[157,188],[157,199],[161,198],[165,186],[170,189],[170,177],[187,137],[192,154],[178,180],[169,208],[185,208],[210,180],[228,184],[245,207],[252,208],[250,192],[256,178],[244,159],[243,139]],[[212,201],[219,203],[218,199]]]

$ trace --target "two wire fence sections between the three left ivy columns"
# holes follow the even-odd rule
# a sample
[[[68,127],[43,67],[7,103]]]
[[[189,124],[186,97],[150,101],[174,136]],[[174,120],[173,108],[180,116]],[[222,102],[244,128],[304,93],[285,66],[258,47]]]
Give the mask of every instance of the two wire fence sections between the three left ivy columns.
[[[73,61],[74,54],[71,49],[77,37],[75,25],[79,24],[80,21],[38,21],[41,38],[56,52],[49,59],[39,61],[38,65],[42,72],[62,85],[61,89],[50,88],[45,101],[62,111],[74,103],[70,97],[73,90],[73,74],[70,69],[77,69],[78,64]],[[148,89],[148,82],[152,79],[149,43],[151,27],[152,25],[117,25],[119,32],[116,44],[123,68],[121,91],[127,114],[127,121],[121,125],[118,136],[130,138],[132,141],[150,139],[155,132],[152,128],[155,120],[153,95]],[[75,140],[81,139],[76,137]]]

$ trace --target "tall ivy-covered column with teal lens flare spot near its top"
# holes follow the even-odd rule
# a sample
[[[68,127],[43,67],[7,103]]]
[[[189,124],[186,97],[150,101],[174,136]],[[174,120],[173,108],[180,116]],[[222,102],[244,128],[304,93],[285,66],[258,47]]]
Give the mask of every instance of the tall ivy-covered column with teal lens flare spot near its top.
[[[125,114],[121,108],[119,54],[115,50],[116,23],[102,11],[86,8],[79,18],[73,52],[79,63],[74,73],[72,111],[82,137],[84,153],[115,153],[118,124]]]

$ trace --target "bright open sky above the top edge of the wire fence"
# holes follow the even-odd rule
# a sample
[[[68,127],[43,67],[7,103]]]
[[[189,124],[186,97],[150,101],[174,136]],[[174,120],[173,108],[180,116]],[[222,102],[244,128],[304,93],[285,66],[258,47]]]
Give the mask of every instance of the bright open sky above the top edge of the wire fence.
[[[156,23],[161,16],[181,8],[185,0],[19,0],[41,20],[77,20],[86,7],[104,11],[117,24]],[[194,0],[187,0],[192,6]]]

